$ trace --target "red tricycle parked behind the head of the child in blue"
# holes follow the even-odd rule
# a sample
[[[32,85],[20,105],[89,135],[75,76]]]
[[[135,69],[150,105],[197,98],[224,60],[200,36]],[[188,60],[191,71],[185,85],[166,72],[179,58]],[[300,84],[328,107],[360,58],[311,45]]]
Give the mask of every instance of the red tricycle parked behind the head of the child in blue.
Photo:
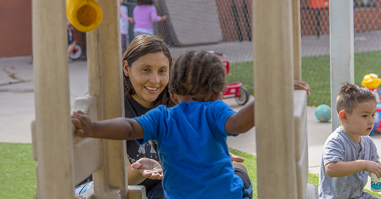
[[[226,67],[226,74],[229,74],[229,61],[228,60],[221,60],[221,62]],[[249,90],[247,90],[245,87],[242,86],[243,84],[240,82],[235,83],[229,83],[226,85],[226,90],[224,91],[223,98],[231,98],[235,97],[237,103],[239,105],[244,105],[249,101],[250,93]]]

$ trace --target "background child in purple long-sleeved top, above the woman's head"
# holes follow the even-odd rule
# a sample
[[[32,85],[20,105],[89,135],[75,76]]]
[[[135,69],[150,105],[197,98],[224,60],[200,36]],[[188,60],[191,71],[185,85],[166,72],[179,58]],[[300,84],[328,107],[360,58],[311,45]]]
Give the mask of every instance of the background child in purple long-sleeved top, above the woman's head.
[[[153,6],[153,0],[137,0],[137,6],[134,8],[134,36],[139,34],[153,34],[152,22],[165,21],[168,16],[157,16],[156,8]]]

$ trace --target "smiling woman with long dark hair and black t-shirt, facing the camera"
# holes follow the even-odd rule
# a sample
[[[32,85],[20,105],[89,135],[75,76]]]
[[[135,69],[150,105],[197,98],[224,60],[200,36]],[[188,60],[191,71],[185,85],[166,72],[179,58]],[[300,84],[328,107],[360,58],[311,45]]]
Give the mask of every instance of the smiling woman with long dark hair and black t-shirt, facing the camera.
[[[142,34],[131,41],[122,61],[125,117],[140,116],[158,105],[174,106],[167,88],[171,64],[169,48],[162,39]],[[140,145],[136,140],[130,140],[126,144],[129,185],[143,185],[149,199],[164,198],[163,176],[156,178],[143,174],[144,170],[163,173],[157,143],[149,140]],[[131,164],[136,162],[143,168],[132,169]],[[91,180],[90,177],[88,179]],[[86,181],[76,187],[75,193],[82,194],[93,186],[92,181]]]

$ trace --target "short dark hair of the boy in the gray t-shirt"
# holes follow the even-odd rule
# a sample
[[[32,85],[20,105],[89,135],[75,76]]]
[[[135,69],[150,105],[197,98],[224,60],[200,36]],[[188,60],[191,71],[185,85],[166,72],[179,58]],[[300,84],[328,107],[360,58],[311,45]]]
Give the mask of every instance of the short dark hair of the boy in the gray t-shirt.
[[[359,103],[372,100],[376,102],[376,96],[370,89],[347,82],[342,85],[343,86],[340,88],[340,92],[336,98],[337,113],[341,110],[345,110],[348,114],[351,114],[353,109],[355,109]]]

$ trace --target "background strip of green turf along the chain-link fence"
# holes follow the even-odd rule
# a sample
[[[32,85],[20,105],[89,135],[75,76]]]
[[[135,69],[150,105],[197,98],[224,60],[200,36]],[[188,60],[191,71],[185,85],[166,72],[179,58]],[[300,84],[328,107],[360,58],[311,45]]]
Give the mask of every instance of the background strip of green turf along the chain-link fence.
[[[381,51],[355,53],[355,83],[361,85],[363,77],[371,72],[381,75],[380,66]],[[228,83],[242,82],[253,94],[252,62],[231,63],[227,79]],[[309,106],[331,105],[329,55],[302,57],[302,80],[311,87]]]

